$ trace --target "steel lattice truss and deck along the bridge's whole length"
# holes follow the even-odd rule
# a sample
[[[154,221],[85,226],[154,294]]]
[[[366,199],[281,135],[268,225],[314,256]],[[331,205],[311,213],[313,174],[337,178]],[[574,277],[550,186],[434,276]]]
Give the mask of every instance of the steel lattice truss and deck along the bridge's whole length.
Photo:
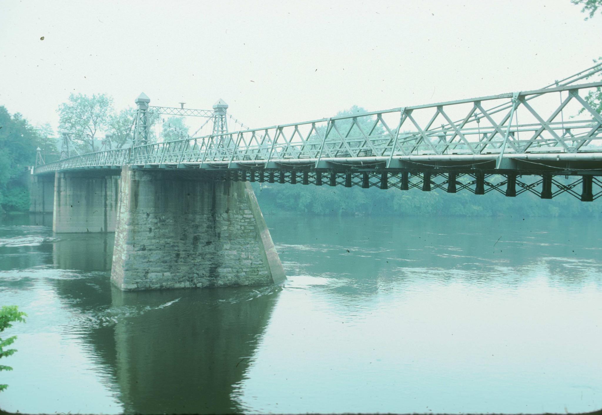
[[[35,173],[129,164],[134,168],[229,169],[262,174],[297,171],[314,175],[317,181],[318,173],[335,172],[345,175],[344,185],[349,184],[347,177],[353,185],[353,180],[359,180],[358,174],[365,184],[364,173],[368,178],[377,175],[379,180],[385,173],[388,177],[411,174],[414,178],[427,174],[430,179],[425,189],[444,186],[432,184],[442,173],[464,179],[471,174],[485,178],[501,174],[511,182],[511,186],[504,182],[506,186],[519,186],[523,192],[541,185],[539,194],[545,198],[551,184],[569,193],[579,184],[586,193],[585,198],[583,192],[579,197],[590,200],[592,186],[600,185],[594,176],[602,176],[602,116],[584,97],[599,87],[602,82],[568,84],[216,133],[69,157],[39,166]],[[542,179],[527,185],[517,174]],[[579,179],[581,182],[571,187],[554,182],[553,177],[559,175],[587,179]],[[478,184],[480,194],[480,188],[488,185],[478,177],[474,183],[452,182],[456,190],[476,189]],[[337,180],[329,183],[337,185]],[[496,183],[489,188],[499,190],[500,186]]]

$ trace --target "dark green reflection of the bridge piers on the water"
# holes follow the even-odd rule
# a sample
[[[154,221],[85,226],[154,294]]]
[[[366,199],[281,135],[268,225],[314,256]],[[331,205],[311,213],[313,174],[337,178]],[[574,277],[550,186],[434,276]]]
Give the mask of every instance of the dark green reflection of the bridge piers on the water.
[[[152,290],[111,287],[113,238],[72,234],[52,244],[54,263],[98,278],[56,279],[70,308],[87,316],[82,337],[126,413],[233,413],[280,288]],[[102,274],[102,275],[101,275]],[[219,328],[219,329],[216,329]]]

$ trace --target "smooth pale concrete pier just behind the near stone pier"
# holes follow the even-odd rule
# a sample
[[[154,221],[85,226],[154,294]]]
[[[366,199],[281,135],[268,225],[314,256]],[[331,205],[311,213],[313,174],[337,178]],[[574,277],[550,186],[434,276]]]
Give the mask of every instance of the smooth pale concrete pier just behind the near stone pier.
[[[120,171],[99,169],[57,172],[52,230],[114,232]]]

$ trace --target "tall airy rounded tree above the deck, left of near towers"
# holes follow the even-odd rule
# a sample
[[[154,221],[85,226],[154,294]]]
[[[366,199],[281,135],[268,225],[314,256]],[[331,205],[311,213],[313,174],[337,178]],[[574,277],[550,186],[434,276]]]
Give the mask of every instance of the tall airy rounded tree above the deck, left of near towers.
[[[69,101],[61,104],[58,128],[73,133],[72,140],[80,148],[96,151],[95,138],[99,131],[108,127],[113,111],[113,98],[105,93],[99,95],[69,95]]]

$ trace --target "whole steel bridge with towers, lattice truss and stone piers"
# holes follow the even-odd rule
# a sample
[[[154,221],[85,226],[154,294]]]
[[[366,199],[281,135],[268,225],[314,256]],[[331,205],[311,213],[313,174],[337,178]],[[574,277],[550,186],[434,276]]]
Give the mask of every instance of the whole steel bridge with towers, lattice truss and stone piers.
[[[443,189],[544,199],[602,195],[596,65],[546,87],[228,131],[228,105],[135,100],[133,145],[43,163],[31,210],[54,232],[115,232],[122,290],[278,283],[284,270],[249,182]],[[149,116],[213,120],[210,135],[148,142]],[[64,150],[64,149],[63,149]]]

